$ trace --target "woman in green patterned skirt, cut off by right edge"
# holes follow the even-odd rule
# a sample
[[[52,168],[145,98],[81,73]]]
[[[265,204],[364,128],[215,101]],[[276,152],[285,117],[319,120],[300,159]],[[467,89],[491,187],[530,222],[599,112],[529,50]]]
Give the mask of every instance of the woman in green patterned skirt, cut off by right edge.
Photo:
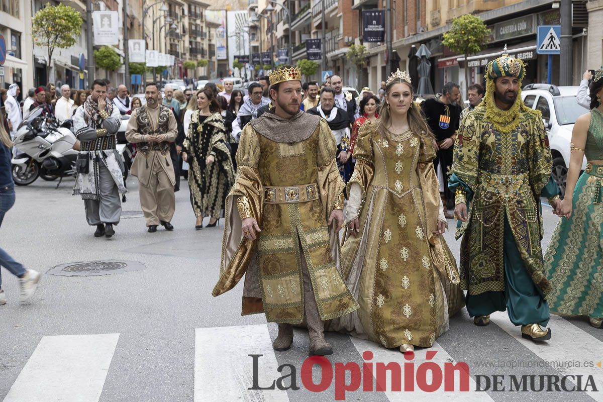
[[[551,312],[588,316],[603,327],[603,66],[590,84],[590,111],[573,127],[561,221],[549,242],[545,269]],[[588,165],[580,175],[582,160]]]

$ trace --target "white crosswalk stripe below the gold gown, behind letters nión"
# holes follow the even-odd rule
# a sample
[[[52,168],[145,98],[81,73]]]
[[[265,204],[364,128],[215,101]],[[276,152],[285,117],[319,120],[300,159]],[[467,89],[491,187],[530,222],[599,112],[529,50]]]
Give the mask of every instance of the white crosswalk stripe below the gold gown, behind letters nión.
[[[390,362],[397,362],[403,368],[404,363],[408,362],[408,360],[405,359],[404,355],[402,353],[400,353],[400,351],[398,349],[386,349],[379,344],[376,344],[371,341],[366,341],[364,339],[358,339],[358,338],[353,338],[353,337],[350,337],[350,339],[352,340],[352,343],[354,344],[354,346],[356,347],[356,350],[358,350],[358,353],[361,356],[362,356],[362,353],[364,353],[364,351],[371,351],[373,353],[373,359],[365,360],[365,362],[368,362],[368,361],[373,362],[373,377],[376,377],[376,364],[374,364],[374,363],[379,362],[379,363],[385,363],[387,365],[387,363],[390,363]],[[435,354],[435,356],[432,359],[427,360],[426,354],[428,351],[435,351],[437,353]],[[455,360],[452,359],[450,354],[448,354],[444,350],[444,348],[442,348],[441,345],[438,344],[438,342],[434,342],[434,345],[431,348],[428,348],[428,349],[421,348],[421,349],[415,350],[415,357],[414,357],[414,360],[412,360],[412,362],[414,362],[415,375],[417,374],[418,366],[420,366],[421,363],[427,362],[427,361],[436,363],[438,366],[440,366],[442,371],[444,371],[444,363],[452,363],[452,364],[456,363]],[[402,369],[402,372],[404,373],[404,369]],[[404,374],[402,374],[402,375],[404,375]],[[415,381],[414,391],[412,392],[412,400],[421,402],[421,401],[433,401],[434,398],[435,398],[435,400],[443,400],[445,398],[447,401],[469,401],[469,402],[493,401],[492,398],[490,398],[488,396],[488,394],[486,394],[485,392],[476,392],[475,391],[475,380],[473,380],[473,377],[469,378],[469,392],[459,392],[458,377],[459,377],[459,375],[456,374],[455,392],[444,391],[443,383],[442,383],[442,386],[437,391],[425,392],[425,391],[422,391],[420,388],[418,388],[417,383]],[[409,398],[408,392],[392,391],[391,390],[391,374],[388,373],[386,378],[387,378],[387,390],[385,391],[385,395],[387,395],[388,399],[391,402],[407,401]],[[429,376],[428,376],[428,383],[431,383],[431,377],[429,377]],[[404,389],[404,381],[402,381],[402,389]],[[440,397],[440,398],[438,398],[438,397]]]

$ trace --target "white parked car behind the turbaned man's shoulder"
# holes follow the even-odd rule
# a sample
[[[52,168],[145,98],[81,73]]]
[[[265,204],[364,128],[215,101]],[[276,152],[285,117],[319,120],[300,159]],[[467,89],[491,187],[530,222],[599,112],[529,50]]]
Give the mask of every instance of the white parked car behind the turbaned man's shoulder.
[[[523,103],[542,112],[549,134],[553,157],[553,178],[561,194],[565,194],[567,168],[570,159],[573,125],[587,110],[576,103],[577,86],[558,87],[551,84],[529,84],[523,87]],[[586,169],[586,157],[582,170]]]

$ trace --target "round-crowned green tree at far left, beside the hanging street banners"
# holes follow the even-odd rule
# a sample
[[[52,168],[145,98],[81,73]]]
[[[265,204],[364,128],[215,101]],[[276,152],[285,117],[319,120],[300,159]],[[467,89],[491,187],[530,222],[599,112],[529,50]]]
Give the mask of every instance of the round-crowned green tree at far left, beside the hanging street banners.
[[[75,44],[75,39],[81,34],[80,13],[68,5],[53,6],[46,3],[33,17],[34,43],[48,49],[48,69],[46,82],[50,81],[50,66],[54,49],[66,49]]]

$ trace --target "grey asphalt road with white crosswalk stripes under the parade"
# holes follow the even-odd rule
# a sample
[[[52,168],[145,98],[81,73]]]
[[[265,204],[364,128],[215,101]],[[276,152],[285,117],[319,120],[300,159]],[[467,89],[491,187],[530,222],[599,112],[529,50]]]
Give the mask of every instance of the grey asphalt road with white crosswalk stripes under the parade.
[[[303,383],[301,368],[307,357],[308,336],[295,330],[294,347],[274,353],[270,347],[276,325],[264,315],[241,316],[242,286],[218,298],[210,294],[218,278],[221,234],[219,227],[194,230],[195,217],[189,204],[186,182],[177,193],[175,230],[159,228],[147,233],[138,201],[135,179],[128,180],[128,218],[107,240],[92,236],[86,224],[83,202],[71,195],[73,181],[58,189],[54,182],[38,180],[17,187],[17,201],[5,216],[0,244],[28,268],[43,272],[42,284],[29,304],[19,305],[17,280],[2,270],[2,287],[8,298],[0,306],[0,400],[5,402],[190,402],[190,401],[332,401],[335,377],[323,392],[312,392]],[[449,221],[452,224],[452,221]],[[546,244],[557,217],[545,207]],[[207,224],[207,219],[205,221]],[[446,233],[458,256],[459,242]],[[131,271],[106,271],[104,275],[54,275],[59,265],[112,260],[126,262]],[[139,265],[137,263],[141,263]],[[138,266],[137,266],[138,265]],[[119,265],[113,268],[119,268]],[[60,271],[60,270],[59,270]],[[60,273],[60,272],[58,272]],[[76,272],[77,274],[77,272]],[[432,361],[466,362],[470,368],[470,392],[430,394],[415,386],[415,392],[346,392],[346,400],[402,401],[603,401],[603,331],[579,319],[551,319],[551,342],[534,345],[519,336],[519,328],[504,313],[493,324],[476,327],[466,310],[450,319],[450,330],[437,339]],[[370,350],[372,362],[405,360],[388,351],[347,335],[329,333],[335,354],[330,361],[362,365],[362,352]],[[268,386],[282,373],[276,366],[295,369],[294,391],[250,390],[253,361],[258,360],[259,386]],[[417,351],[415,368],[427,359]],[[593,366],[569,366],[588,361]],[[551,366],[551,362],[557,366]],[[559,367],[558,365],[562,365]],[[564,366],[563,366],[564,365]],[[340,367],[341,369],[341,367]],[[320,383],[318,368],[314,382]],[[592,376],[597,392],[510,391],[511,375],[583,375],[582,387]],[[502,375],[504,377],[493,377]],[[478,377],[481,376],[481,377]],[[476,392],[476,381],[487,391]],[[339,378],[342,380],[343,377]],[[350,375],[347,383],[350,383]],[[431,378],[428,375],[428,378]],[[494,391],[500,380],[505,391]],[[551,377],[552,378],[552,377]],[[308,378],[306,378],[306,382]],[[576,383],[577,377],[568,382]],[[285,381],[289,385],[290,378]],[[429,381],[428,381],[429,383]],[[339,382],[341,384],[341,382]],[[571,388],[570,386],[566,388]],[[443,387],[442,387],[443,388]]]

